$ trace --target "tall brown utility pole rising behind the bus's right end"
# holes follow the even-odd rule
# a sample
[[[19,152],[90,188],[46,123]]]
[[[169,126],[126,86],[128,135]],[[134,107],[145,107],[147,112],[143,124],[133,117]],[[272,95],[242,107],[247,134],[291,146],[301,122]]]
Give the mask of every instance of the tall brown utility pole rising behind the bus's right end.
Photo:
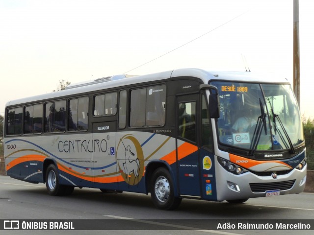
[[[293,0],[293,92],[300,109],[299,0]]]

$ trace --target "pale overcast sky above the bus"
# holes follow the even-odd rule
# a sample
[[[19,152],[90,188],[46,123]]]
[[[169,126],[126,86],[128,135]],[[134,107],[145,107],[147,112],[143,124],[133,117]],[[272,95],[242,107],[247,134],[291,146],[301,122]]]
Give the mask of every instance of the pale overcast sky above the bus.
[[[301,115],[308,118],[313,12],[313,0],[299,0]],[[60,80],[245,71],[243,57],[251,71],[292,83],[292,34],[293,0],[0,0],[0,115],[7,101],[52,92]]]

